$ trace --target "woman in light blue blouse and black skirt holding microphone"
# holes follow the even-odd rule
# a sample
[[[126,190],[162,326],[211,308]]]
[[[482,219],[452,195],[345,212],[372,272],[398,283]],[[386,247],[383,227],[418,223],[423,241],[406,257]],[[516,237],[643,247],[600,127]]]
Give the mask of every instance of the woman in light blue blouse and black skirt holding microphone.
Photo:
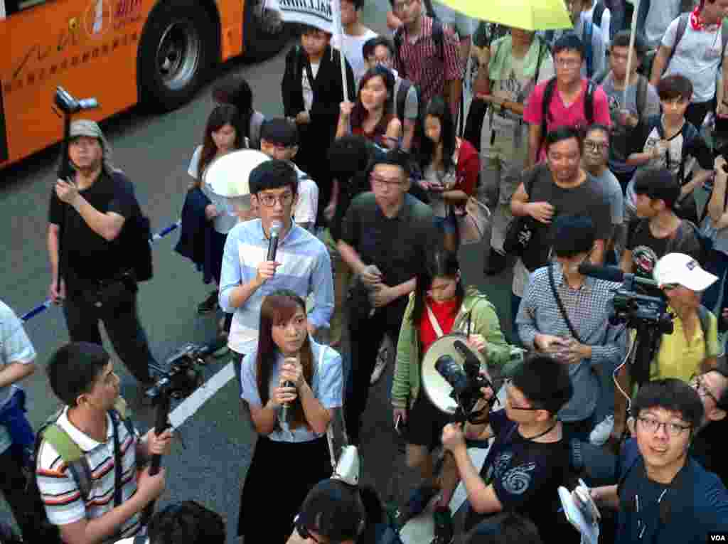
[[[242,360],[241,398],[258,433],[240,497],[245,542],[285,543],[309,489],[331,476],[325,433],[342,405],[341,355],[307,325],[306,302],[274,291],[261,304],[258,348]]]

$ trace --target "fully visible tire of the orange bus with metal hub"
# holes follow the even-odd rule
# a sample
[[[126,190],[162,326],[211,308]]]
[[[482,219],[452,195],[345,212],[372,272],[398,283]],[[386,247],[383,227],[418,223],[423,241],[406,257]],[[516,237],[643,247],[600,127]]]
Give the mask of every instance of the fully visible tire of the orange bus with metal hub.
[[[215,23],[194,0],[164,1],[154,8],[137,57],[140,101],[157,111],[189,102],[218,56]]]

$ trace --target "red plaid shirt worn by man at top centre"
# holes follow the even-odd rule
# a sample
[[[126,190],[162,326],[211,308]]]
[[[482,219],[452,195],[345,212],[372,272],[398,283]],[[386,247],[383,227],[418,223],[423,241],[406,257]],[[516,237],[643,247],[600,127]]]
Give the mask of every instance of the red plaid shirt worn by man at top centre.
[[[443,55],[432,39],[432,18],[422,17],[422,31],[414,44],[407,30],[402,28],[402,47],[395,55],[395,68],[419,87],[419,100],[427,104],[430,99],[445,92],[445,82],[462,79],[459,44],[452,29],[443,27]]]

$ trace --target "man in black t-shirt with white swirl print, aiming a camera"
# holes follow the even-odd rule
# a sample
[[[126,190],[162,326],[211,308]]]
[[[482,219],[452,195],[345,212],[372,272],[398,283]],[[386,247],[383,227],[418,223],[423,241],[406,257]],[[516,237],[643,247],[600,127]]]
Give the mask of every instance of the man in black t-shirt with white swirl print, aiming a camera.
[[[578,533],[558,513],[558,486],[569,478],[569,442],[557,413],[571,399],[569,371],[547,355],[527,359],[506,382],[505,409],[494,411],[482,425],[450,423],[443,446],[455,457],[467,491],[470,512],[466,531],[475,524],[500,521],[494,514],[515,511],[534,521],[545,543],[578,542]],[[494,393],[483,390],[486,398]],[[483,409],[478,401],[476,409]],[[495,436],[483,469],[472,464],[465,437]]]

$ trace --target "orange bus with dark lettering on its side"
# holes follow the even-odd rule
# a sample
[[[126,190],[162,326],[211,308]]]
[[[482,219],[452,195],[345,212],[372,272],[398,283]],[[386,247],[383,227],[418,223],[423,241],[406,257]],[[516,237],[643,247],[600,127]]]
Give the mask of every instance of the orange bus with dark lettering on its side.
[[[105,119],[144,103],[169,111],[210,68],[279,51],[288,29],[266,0],[0,0],[0,167],[63,138],[56,87]]]

